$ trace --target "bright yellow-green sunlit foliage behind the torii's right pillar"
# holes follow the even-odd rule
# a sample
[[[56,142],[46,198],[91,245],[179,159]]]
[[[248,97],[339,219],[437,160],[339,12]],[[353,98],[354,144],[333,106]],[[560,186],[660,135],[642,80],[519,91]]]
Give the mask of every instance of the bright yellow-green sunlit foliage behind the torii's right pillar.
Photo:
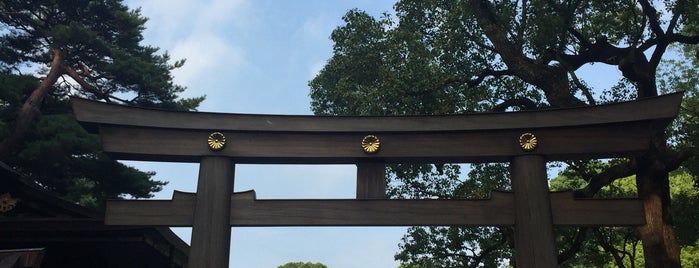
[[[596,161],[599,170],[610,163]],[[553,190],[574,189],[584,185],[585,180],[578,172],[568,169],[551,180]],[[699,188],[694,185],[694,177],[686,168],[673,171],[670,175],[670,195],[673,200],[672,214],[675,217],[674,229],[682,247],[680,258],[685,267],[696,267],[696,246],[699,244],[699,227],[694,224],[699,217]],[[615,180],[600,189],[602,197],[635,197],[634,176]],[[569,230],[570,232],[570,230]],[[584,229],[589,241],[581,244],[579,258],[572,259],[561,267],[641,267],[644,264],[643,251],[635,229],[630,227],[590,227]],[[599,254],[603,253],[603,254]]]

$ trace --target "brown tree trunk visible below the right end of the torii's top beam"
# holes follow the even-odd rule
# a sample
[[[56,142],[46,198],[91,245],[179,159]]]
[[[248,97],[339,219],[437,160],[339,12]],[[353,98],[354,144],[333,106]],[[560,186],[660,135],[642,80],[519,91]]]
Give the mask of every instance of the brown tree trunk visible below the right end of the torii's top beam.
[[[645,267],[681,267],[680,248],[675,240],[670,213],[670,180],[662,155],[665,137],[656,135],[651,149],[639,157],[636,187],[643,201],[646,224],[638,228],[643,242]]]

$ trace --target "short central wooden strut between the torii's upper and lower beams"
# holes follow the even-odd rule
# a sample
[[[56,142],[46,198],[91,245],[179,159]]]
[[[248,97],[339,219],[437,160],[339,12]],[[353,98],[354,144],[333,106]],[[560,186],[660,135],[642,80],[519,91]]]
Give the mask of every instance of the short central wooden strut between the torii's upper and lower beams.
[[[357,163],[357,199],[386,198],[386,164]]]

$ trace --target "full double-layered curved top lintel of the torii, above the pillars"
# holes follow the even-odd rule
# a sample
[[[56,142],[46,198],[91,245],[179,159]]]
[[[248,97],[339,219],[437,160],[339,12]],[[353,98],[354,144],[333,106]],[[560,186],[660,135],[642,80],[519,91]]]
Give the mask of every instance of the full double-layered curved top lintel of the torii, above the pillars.
[[[517,155],[547,160],[642,153],[677,115],[682,93],[589,107],[438,116],[298,116],[177,112],[71,98],[78,121],[99,129],[105,152],[120,159],[238,163],[489,162]],[[211,150],[207,137],[226,137]],[[535,148],[520,145],[523,134]],[[366,153],[367,135],[380,149]],[[531,138],[531,136],[524,136]]]

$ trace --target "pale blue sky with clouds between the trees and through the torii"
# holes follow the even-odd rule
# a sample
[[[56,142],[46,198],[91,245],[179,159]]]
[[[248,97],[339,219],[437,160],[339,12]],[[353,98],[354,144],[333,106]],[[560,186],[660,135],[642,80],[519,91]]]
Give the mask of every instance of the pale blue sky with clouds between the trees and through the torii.
[[[127,0],[149,18],[144,43],[186,59],[174,72],[188,90],[206,95],[200,111],[311,114],[308,81],[332,55],[330,33],[352,8],[372,15],[394,1]],[[156,171],[173,190],[194,192],[198,165],[126,162]],[[354,166],[238,165],[236,191],[258,198],[353,198]],[[175,228],[189,241],[189,228]],[[291,261],[331,268],[396,267],[403,227],[233,228],[230,267],[275,268]]]

